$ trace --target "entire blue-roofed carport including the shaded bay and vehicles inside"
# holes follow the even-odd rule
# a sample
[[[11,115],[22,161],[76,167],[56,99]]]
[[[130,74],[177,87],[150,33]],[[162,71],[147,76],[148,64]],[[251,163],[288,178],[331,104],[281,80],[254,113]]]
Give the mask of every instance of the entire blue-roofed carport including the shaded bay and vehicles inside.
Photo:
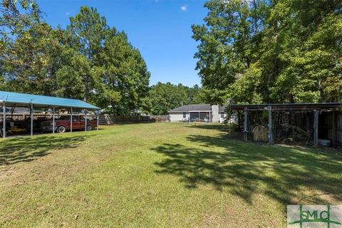
[[[3,138],[41,131],[64,133],[98,128],[99,108],[81,100],[0,91],[0,103]]]

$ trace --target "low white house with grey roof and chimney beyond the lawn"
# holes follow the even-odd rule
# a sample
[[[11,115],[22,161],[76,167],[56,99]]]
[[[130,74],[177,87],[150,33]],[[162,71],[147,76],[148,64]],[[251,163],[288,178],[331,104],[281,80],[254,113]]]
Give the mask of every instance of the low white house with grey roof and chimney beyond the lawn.
[[[170,121],[190,121],[195,120],[206,123],[223,123],[227,113],[224,106],[219,105],[183,105],[169,111]]]

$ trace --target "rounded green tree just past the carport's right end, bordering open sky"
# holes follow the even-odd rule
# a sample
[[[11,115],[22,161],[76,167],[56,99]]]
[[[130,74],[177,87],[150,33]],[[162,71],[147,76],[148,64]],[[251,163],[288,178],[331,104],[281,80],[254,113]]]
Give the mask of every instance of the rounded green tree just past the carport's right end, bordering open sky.
[[[111,113],[137,113],[141,99],[147,95],[150,73],[138,49],[129,42],[124,32],[108,29],[103,52],[101,80],[103,88],[98,99],[111,105]]]

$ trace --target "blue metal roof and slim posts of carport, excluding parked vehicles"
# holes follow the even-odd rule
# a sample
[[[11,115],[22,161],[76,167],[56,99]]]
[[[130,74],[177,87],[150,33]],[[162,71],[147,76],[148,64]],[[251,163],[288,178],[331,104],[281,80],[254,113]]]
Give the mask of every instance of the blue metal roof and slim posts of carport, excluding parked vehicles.
[[[70,98],[56,98],[45,95],[33,95],[27,93],[12,93],[6,91],[0,91],[0,105],[2,110],[2,130],[3,130],[3,138],[6,138],[6,110],[9,110],[9,107],[22,107],[28,108],[31,116],[31,126],[30,132],[33,135],[33,113],[35,113],[35,108],[45,109],[52,113],[52,121],[53,121],[53,133],[55,133],[55,115],[56,110],[65,109],[68,110],[71,125],[71,132],[73,131],[73,115],[85,115],[85,130],[87,130],[87,117],[89,110],[99,110],[100,108],[90,105],[82,100],[70,99]],[[73,113],[73,109],[83,110],[84,114],[75,114]],[[96,129],[98,130],[98,115],[97,115],[97,125]]]

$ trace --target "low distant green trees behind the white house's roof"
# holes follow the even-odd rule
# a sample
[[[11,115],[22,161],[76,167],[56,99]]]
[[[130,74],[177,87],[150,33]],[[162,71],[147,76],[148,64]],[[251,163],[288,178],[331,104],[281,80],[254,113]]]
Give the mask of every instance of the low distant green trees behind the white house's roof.
[[[151,86],[146,98],[142,100],[145,113],[165,115],[173,108],[181,105],[204,103],[202,89],[195,85],[193,88],[182,84],[157,83]]]

